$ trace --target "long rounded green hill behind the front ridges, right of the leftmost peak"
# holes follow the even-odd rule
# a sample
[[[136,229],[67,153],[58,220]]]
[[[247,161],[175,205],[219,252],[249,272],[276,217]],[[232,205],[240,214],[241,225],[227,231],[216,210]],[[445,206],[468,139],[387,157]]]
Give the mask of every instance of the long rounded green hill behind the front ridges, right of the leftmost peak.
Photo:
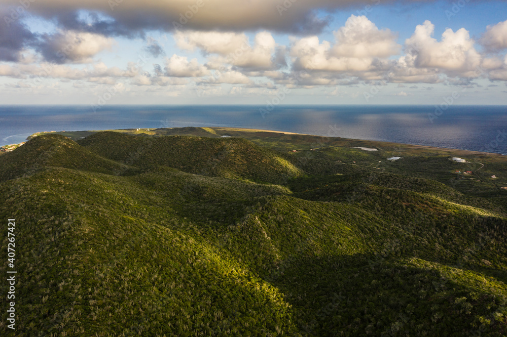
[[[302,174],[286,155],[242,138],[141,138],[103,132],[89,136],[79,144],[105,158],[143,168],[160,165],[204,176],[270,183]]]

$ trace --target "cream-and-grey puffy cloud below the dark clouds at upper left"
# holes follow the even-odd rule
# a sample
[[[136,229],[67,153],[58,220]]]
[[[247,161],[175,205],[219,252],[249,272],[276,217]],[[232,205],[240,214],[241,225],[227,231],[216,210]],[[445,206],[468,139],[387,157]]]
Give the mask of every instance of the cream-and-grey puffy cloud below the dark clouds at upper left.
[[[89,63],[93,56],[114,44],[113,38],[77,31],[59,31],[41,38],[38,51],[46,61],[58,64]]]

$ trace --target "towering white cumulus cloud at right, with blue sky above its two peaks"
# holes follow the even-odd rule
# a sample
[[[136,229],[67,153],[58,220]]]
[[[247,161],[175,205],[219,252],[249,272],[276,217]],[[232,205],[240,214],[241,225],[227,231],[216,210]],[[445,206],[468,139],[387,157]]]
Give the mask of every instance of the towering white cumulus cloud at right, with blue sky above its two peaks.
[[[474,40],[464,28],[454,32],[448,28],[442,40],[433,38],[435,26],[428,20],[418,25],[414,34],[405,41],[407,49],[415,56],[418,68],[438,68],[451,75],[477,77],[481,55],[474,48]]]

